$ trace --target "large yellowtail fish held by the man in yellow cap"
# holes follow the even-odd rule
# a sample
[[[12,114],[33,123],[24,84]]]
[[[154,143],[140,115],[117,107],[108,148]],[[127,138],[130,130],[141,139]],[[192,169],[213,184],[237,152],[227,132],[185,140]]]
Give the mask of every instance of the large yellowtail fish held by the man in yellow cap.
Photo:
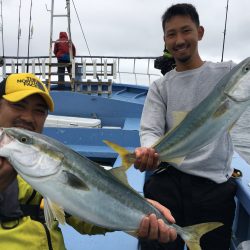
[[[189,249],[200,250],[200,237],[219,222],[180,227],[164,216],[126,181],[124,168],[110,171],[47,136],[19,128],[0,129],[0,156],[44,197],[46,223],[64,223],[64,211],[107,228],[136,234],[145,215],[155,213],[175,228]]]

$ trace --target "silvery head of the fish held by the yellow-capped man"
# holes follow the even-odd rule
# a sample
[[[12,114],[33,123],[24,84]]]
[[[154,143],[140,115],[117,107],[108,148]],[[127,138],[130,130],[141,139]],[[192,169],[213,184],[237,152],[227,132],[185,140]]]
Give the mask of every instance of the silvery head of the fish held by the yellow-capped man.
[[[9,143],[1,140],[0,156],[8,158],[24,179],[48,177],[61,171],[64,155],[39,134],[21,128],[3,128],[1,132],[0,137],[7,137]]]

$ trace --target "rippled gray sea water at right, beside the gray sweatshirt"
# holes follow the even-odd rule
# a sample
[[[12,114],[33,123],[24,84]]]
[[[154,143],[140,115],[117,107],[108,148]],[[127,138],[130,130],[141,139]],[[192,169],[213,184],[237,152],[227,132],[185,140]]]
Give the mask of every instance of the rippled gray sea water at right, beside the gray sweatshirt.
[[[231,135],[235,150],[250,164],[250,107],[234,125]]]

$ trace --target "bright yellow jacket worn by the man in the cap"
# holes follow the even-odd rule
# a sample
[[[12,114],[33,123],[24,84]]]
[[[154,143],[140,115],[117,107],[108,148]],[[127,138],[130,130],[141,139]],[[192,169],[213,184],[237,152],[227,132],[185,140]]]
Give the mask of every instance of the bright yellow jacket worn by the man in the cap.
[[[20,176],[18,176],[20,204],[40,205],[42,196],[35,192]],[[35,194],[35,195],[34,195]],[[82,222],[70,216],[67,223],[81,234],[105,234],[107,230]],[[2,222],[0,225],[0,249],[4,250],[64,250],[61,229],[55,221],[49,230],[40,221],[24,216],[15,221]]]

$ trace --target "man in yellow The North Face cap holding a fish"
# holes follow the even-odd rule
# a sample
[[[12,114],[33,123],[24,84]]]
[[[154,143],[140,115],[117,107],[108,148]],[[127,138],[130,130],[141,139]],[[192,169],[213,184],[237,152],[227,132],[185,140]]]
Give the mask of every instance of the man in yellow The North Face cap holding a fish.
[[[33,74],[12,74],[0,83],[0,127],[20,127],[41,133],[48,110],[54,110],[53,100],[46,86]],[[42,196],[28,185],[9,164],[0,157],[0,249],[5,250],[63,250],[63,236],[58,222],[49,230],[40,209]],[[170,211],[152,201],[170,222]],[[107,230],[66,218],[82,234],[104,234]],[[138,231],[139,237],[168,242],[176,232],[155,215],[145,217]]]

